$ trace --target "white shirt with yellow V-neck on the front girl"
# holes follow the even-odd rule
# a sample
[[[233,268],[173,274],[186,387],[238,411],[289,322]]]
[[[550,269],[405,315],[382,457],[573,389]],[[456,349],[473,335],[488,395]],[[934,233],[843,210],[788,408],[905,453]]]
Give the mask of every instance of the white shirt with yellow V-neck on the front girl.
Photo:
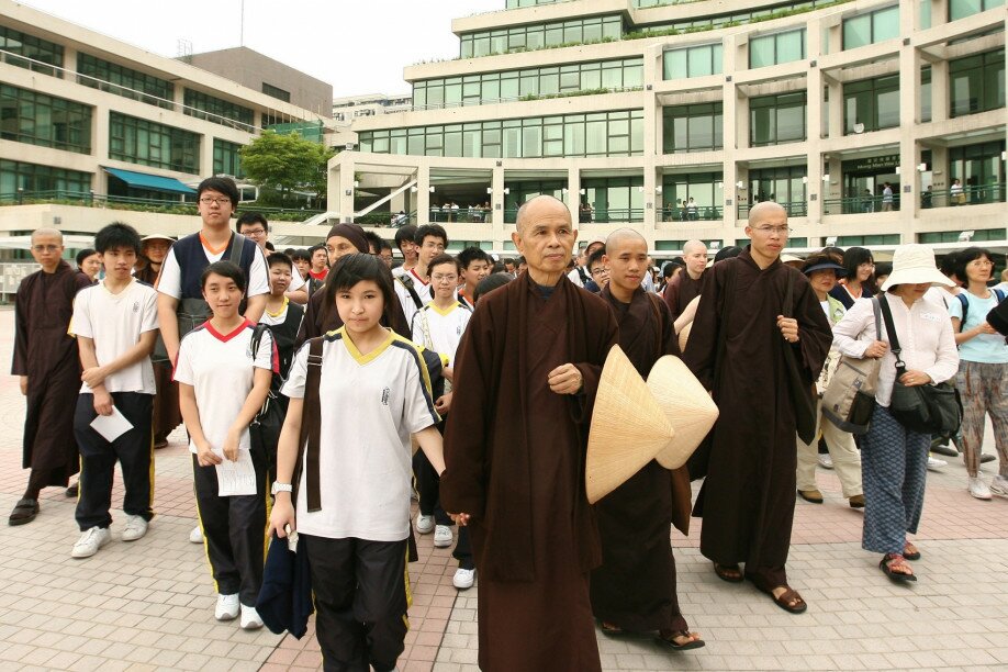
[[[389,332],[361,355],[346,327],[326,335],[318,401],[322,509],[309,513],[300,480],[298,531],[331,539],[400,541],[410,534],[413,450],[410,435],[440,422],[417,346]],[[309,344],[294,356],[282,392],[304,397]]]

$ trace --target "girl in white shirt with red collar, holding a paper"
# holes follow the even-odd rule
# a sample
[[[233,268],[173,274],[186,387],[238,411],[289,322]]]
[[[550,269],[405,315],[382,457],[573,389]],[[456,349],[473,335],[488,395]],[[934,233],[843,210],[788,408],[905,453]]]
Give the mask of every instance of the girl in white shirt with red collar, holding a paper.
[[[179,345],[175,380],[189,430],[197,509],[206,559],[216,584],[214,617],[242,614],[242,627],[262,627],[256,597],[262,584],[266,529],[266,455],[254,449],[248,425],[279,371],[269,329],[253,348],[255,325],[238,314],[245,273],[231,261],[208,266],[200,278],[213,316]],[[254,481],[253,481],[254,479]],[[233,494],[221,494],[228,488]]]

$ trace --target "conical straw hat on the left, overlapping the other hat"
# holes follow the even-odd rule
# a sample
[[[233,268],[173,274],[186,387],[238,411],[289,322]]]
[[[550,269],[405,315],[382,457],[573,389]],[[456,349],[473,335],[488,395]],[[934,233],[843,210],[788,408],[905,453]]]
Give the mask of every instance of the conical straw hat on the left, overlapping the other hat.
[[[594,504],[654,459],[673,436],[647,383],[613,346],[602,369],[589,434],[584,484]]]

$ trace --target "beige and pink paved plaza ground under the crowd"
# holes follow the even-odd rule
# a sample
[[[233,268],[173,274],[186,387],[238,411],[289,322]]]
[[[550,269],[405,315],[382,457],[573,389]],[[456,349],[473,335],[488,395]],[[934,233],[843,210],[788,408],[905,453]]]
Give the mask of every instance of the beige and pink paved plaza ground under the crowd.
[[[0,361],[9,362],[13,315],[0,311]],[[7,366],[4,363],[4,366]],[[71,413],[67,408],[67,413]],[[24,490],[24,401],[0,376],[0,511]],[[988,433],[989,434],[989,433]],[[989,437],[988,437],[989,444]],[[993,446],[987,447],[993,451]],[[22,527],[0,526],[0,670],[321,669],[318,645],[213,619],[215,595],[195,524],[184,435],[156,458],[157,517],[143,539],[113,541],[86,560],[70,558],[78,537],[74,503],[57,489]],[[984,468],[985,477],[994,464]],[[116,477],[117,479],[117,477]],[[824,505],[799,501],[788,562],[809,603],[792,616],[749,584],[718,580],[697,551],[699,522],[673,536],[682,609],[707,647],[688,653],[648,639],[598,635],[605,670],[884,670],[1008,668],[1008,500],[979,502],[965,490],[961,460],[930,473],[917,536],[920,581],[892,584],[878,557],[861,550],[860,512],[819,471]],[[113,506],[121,503],[116,485]],[[419,537],[410,565],[412,629],[400,670],[477,670],[477,591],[451,585],[450,549]],[[522,618],[522,614],[514,614]],[[558,661],[560,663],[562,661]]]

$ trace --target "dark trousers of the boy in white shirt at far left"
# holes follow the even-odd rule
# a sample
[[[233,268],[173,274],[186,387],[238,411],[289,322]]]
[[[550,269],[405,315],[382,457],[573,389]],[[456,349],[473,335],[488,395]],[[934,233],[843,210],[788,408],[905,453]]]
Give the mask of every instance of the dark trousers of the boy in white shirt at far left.
[[[109,509],[112,507],[116,460],[122,466],[126,491],[123,512],[147,520],[154,517],[154,440],[150,428],[154,395],[113,392],[112,403],[130,421],[133,429],[109,441],[91,427],[91,422],[98,417],[94,395],[81,394],[77,399],[74,437],[80,449],[80,494],[76,517],[81,531],[112,524]]]

